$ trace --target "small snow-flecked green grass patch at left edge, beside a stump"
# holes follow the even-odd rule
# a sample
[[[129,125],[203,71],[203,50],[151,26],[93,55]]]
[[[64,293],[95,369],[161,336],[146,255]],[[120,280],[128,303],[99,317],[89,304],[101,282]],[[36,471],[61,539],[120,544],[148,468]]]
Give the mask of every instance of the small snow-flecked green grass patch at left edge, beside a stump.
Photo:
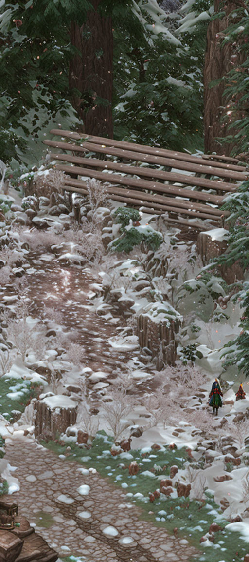
[[[30,400],[37,396],[39,385],[30,380],[0,379],[0,413],[12,421],[12,411],[24,412]]]

